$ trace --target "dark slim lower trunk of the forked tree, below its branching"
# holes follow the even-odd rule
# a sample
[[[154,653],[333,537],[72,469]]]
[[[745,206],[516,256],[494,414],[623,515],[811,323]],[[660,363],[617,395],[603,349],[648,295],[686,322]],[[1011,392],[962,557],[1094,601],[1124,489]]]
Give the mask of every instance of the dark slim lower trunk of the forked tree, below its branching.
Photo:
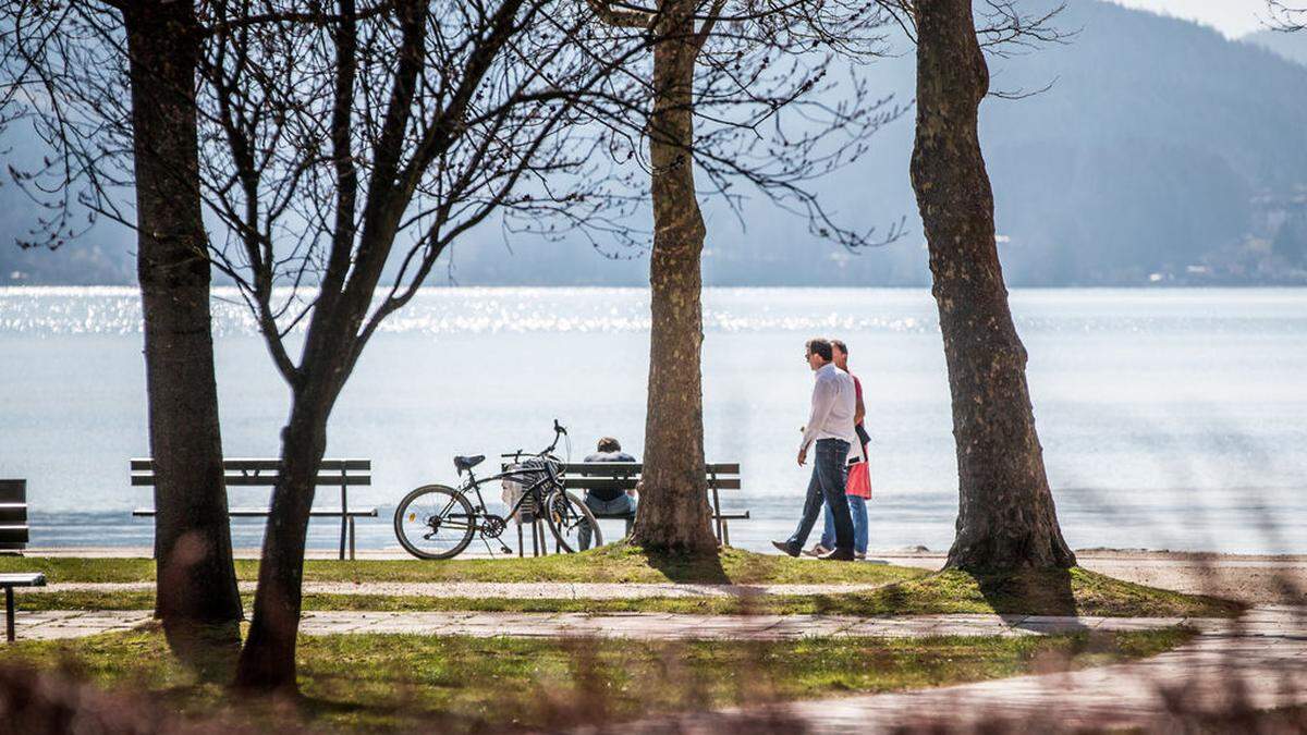
[[[297,392],[282,429],[281,476],[272,490],[263,539],[254,619],[237,668],[235,685],[257,692],[295,693],[305,541],[314,505],[314,477],[327,449],[331,402]]]

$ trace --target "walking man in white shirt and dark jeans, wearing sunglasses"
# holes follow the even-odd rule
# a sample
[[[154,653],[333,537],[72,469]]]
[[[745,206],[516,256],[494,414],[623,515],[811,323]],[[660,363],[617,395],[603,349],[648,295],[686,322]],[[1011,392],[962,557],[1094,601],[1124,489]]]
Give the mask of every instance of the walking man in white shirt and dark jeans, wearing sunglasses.
[[[853,560],[853,519],[848,513],[848,500],[844,497],[844,460],[848,447],[856,437],[853,413],[857,407],[853,379],[833,362],[831,344],[823,339],[808,340],[804,358],[813,369],[812,415],[804,426],[804,439],[799,445],[799,464],[808,462],[808,449],[816,446],[813,476],[808,483],[808,500],[804,502],[804,515],[795,534],[786,541],[771,541],[774,547],[789,556],[799,552],[808,541],[808,535],[817,523],[822,502],[830,506],[835,521],[835,551],[821,558],[838,561]]]

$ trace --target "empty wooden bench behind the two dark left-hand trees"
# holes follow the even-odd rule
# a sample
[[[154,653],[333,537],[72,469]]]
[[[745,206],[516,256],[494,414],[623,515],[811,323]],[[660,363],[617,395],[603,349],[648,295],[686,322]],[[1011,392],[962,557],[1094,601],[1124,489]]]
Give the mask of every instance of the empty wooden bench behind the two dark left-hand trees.
[[[132,487],[154,487],[154,460],[132,460]],[[280,459],[223,459],[222,475],[227,489],[231,488],[272,488],[277,484]],[[370,459],[323,459],[318,466],[314,485],[319,488],[340,488],[340,507],[315,507],[311,518],[340,518],[340,558],[345,558],[348,541],[349,558],[354,558],[354,519],[376,518],[375,507],[350,507],[349,488],[372,484],[372,460]],[[153,517],[153,507],[137,507],[132,515]],[[267,518],[269,507],[233,506],[227,509],[231,518]]]

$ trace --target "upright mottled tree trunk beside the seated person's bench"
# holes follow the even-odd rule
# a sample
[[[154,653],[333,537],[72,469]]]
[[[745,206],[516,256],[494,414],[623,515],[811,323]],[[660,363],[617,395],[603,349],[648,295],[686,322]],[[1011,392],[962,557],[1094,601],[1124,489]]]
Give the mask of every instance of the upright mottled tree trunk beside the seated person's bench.
[[[698,47],[694,4],[668,0],[654,48],[650,158],[654,254],[650,262],[648,413],[644,475],[633,543],[648,549],[715,553],[703,462],[701,307],[703,216],[694,191],[693,89]]]

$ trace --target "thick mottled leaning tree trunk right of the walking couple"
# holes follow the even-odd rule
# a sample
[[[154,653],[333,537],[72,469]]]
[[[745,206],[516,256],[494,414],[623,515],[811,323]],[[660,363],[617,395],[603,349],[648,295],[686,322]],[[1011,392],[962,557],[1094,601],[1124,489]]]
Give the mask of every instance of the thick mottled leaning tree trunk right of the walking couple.
[[[989,72],[970,0],[916,4],[912,188],[925,225],[953,394],[959,511],[949,566],[1067,568],[1026,386],[1026,349],[1008,309],[993,192],[976,132]]]

